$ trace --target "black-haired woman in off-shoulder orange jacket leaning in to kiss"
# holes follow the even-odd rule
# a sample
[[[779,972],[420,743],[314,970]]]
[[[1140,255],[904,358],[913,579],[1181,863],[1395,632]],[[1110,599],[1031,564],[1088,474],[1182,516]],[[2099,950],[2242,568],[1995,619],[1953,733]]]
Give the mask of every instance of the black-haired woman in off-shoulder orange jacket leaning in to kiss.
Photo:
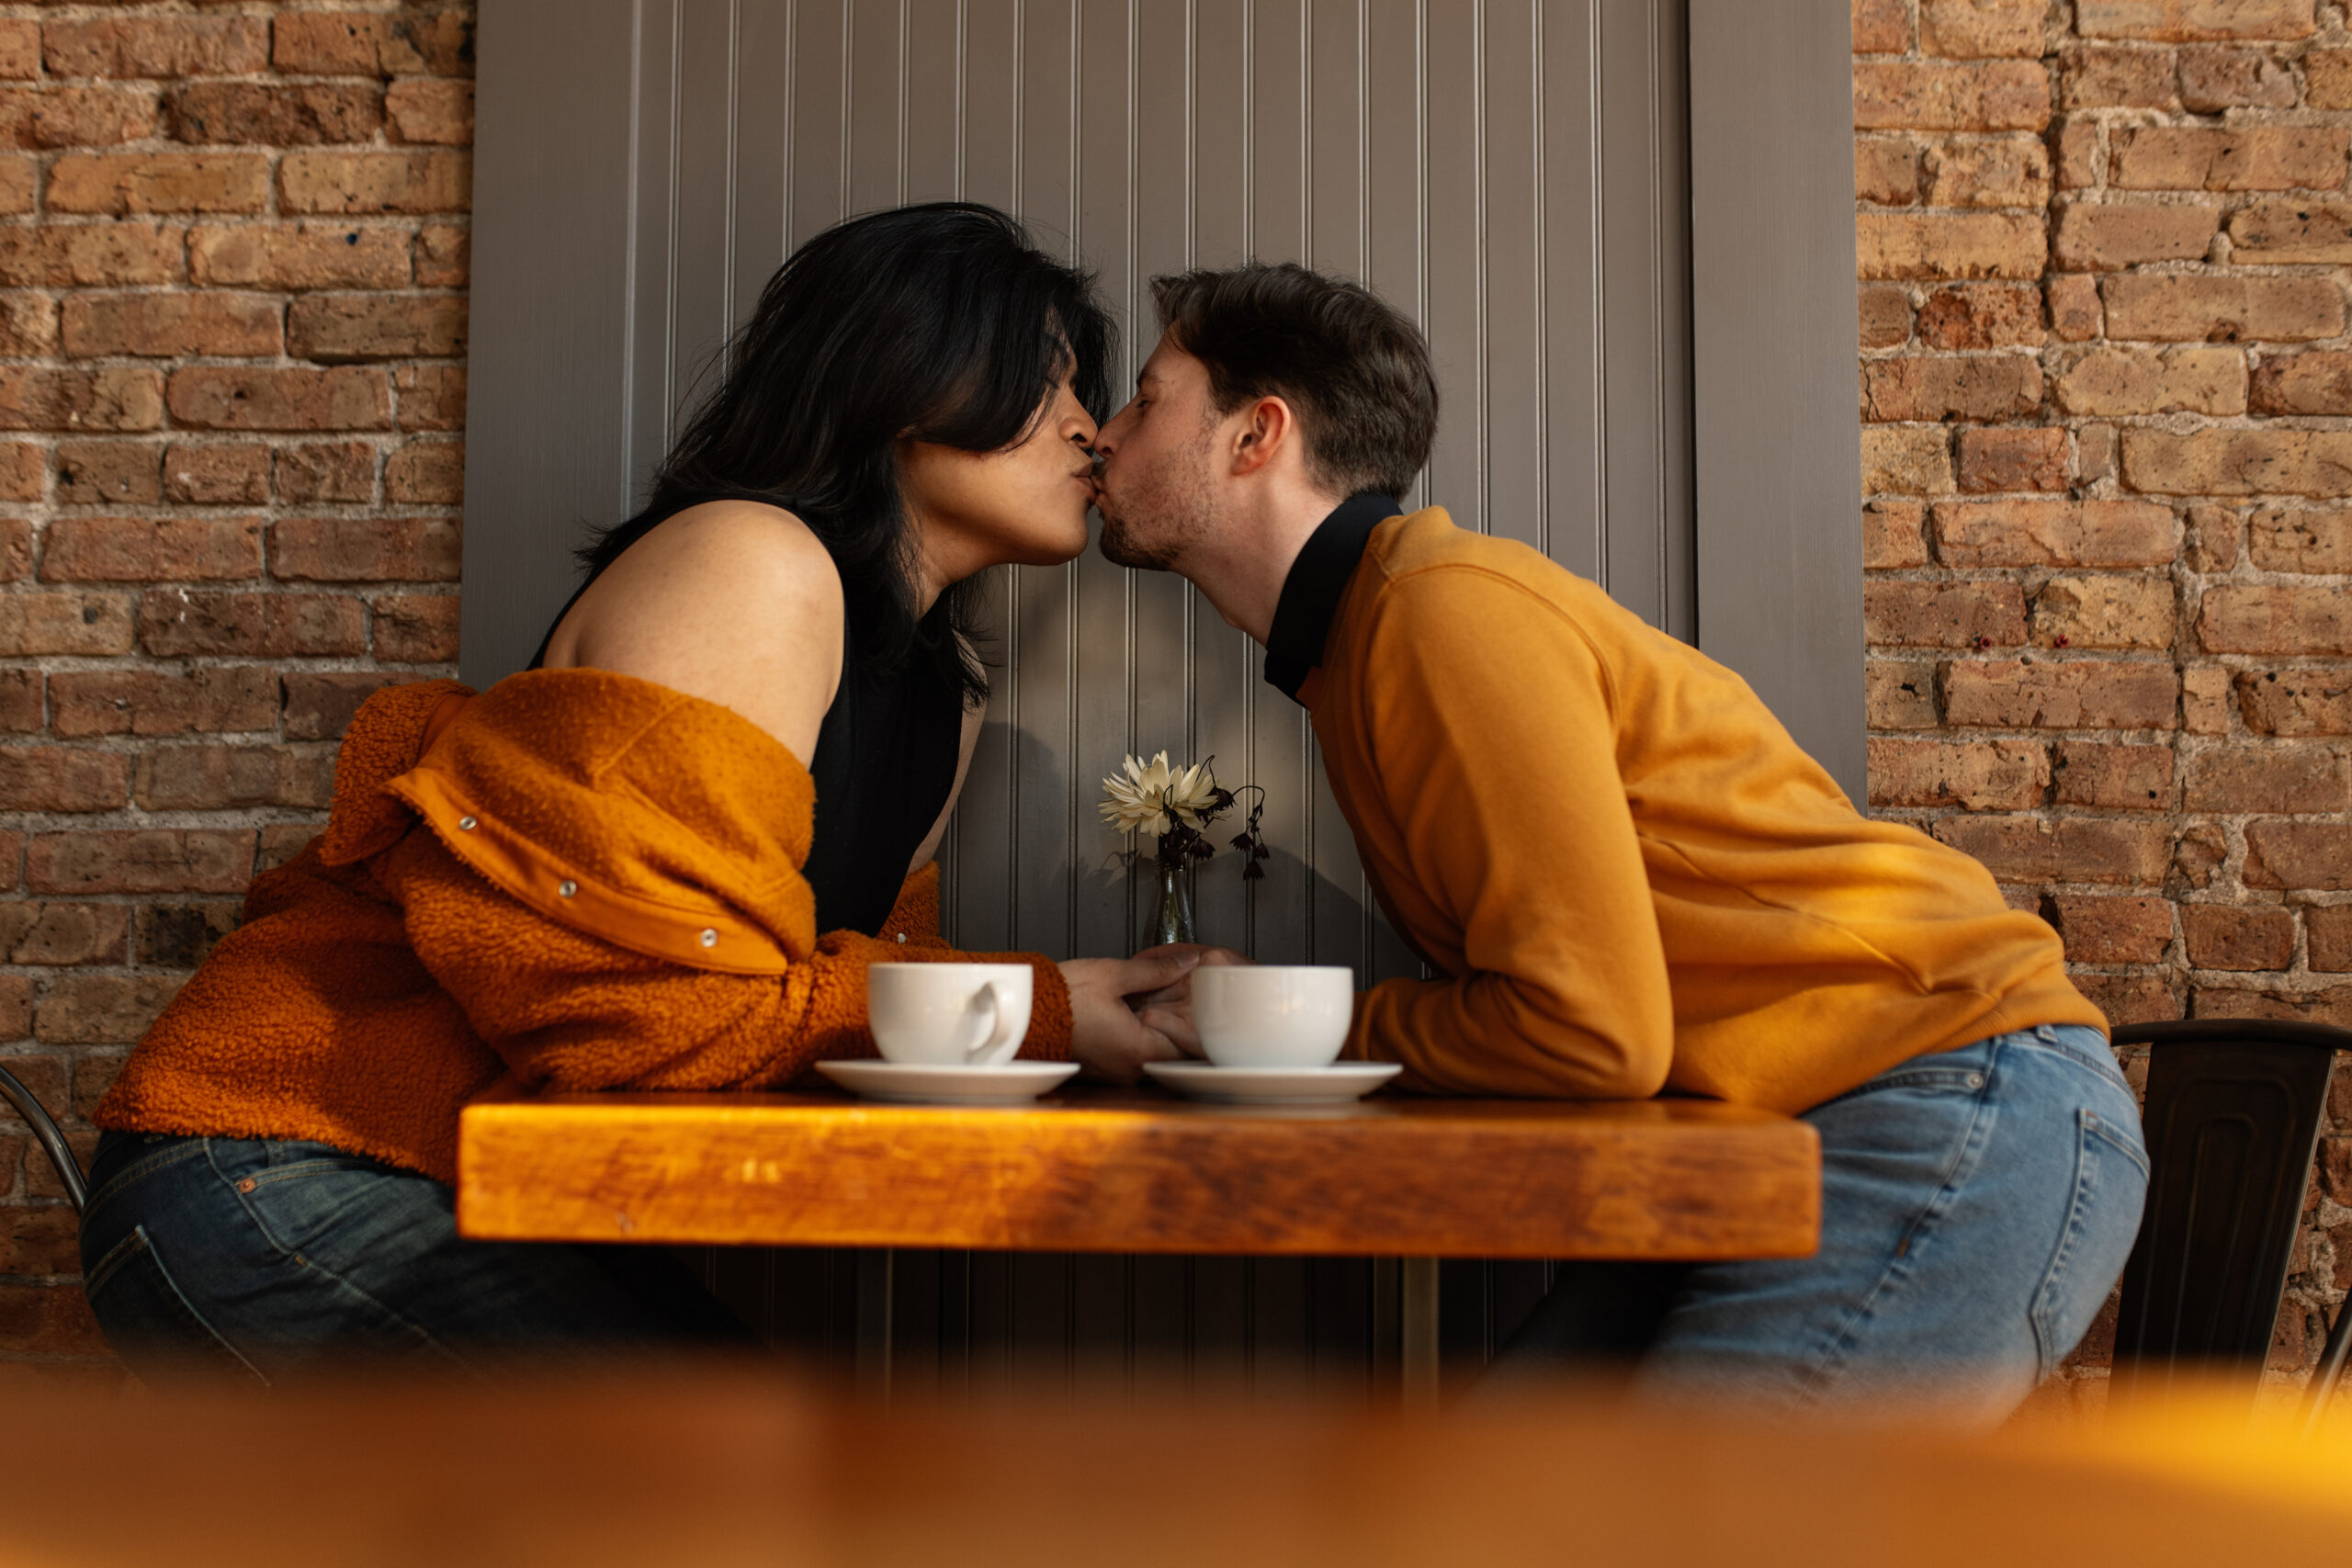
[[[101,1103],[82,1265],[134,1371],[741,1335],[659,1248],[461,1241],[459,1107],[873,1053],[877,959],[1033,964],[1028,1056],[1112,1079],[1176,1056],[1124,997],[1192,954],[1051,964],[936,929],[988,691],[971,578],[1087,545],[1110,353],[1087,277],[985,207],[786,261],[536,668],[376,693],[327,830],[254,882]]]

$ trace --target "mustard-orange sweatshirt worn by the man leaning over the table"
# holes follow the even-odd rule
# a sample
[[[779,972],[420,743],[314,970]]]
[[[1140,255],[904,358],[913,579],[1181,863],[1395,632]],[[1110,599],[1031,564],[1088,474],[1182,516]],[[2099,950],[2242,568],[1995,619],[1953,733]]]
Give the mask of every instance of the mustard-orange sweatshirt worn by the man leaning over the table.
[[[1731,670],[1444,510],[1371,534],[1301,686],[1399,931],[1350,1053],[1454,1093],[1799,1112],[2107,1023],[1983,865],[1872,823]]]

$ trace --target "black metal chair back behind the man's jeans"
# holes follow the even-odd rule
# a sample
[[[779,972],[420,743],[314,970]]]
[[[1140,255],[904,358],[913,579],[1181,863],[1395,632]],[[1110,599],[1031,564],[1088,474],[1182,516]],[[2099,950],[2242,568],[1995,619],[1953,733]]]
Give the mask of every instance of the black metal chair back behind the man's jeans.
[[[2241,1375],[2270,1359],[2303,1220],[2336,1051],[2352,1030],[2272,1018],[2143,1023],[2147,1211],[2124,1265],[2117,1396],[2161,1394],[2180,1373]],[[2343,1363],[2340,1312],[2312,1380],[2312,1410]]]

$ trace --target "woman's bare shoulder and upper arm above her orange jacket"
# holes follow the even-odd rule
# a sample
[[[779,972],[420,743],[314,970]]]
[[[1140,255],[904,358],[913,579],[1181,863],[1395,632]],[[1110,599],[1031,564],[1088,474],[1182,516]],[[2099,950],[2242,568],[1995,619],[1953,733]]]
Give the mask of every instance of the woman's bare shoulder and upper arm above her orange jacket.
[[[729,708],[795,757],[842,675],[842,578],[790,512],[713,501],[666,520],[581,595],[574,665]]]

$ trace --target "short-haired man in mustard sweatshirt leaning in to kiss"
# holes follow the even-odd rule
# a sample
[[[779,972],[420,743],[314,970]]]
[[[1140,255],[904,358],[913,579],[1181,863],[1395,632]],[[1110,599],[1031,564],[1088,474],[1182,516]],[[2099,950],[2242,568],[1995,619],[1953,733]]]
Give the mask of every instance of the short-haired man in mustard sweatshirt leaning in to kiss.
[[[1736,675],[1534,550],[1402,515],[1421,334],[1296,266],[1152,284],[1103,555],[1188,576],[1312,712],[1397,929],[1357,1001],[1406,1088],[1712,1095],[1823,1143],[1804,1260],[1571,1269],[1498,1378],[1639,1352],[1651,1387],[2006,1415],[2082,1338],[2147,1157],[2058,938],[1863,818]]]

